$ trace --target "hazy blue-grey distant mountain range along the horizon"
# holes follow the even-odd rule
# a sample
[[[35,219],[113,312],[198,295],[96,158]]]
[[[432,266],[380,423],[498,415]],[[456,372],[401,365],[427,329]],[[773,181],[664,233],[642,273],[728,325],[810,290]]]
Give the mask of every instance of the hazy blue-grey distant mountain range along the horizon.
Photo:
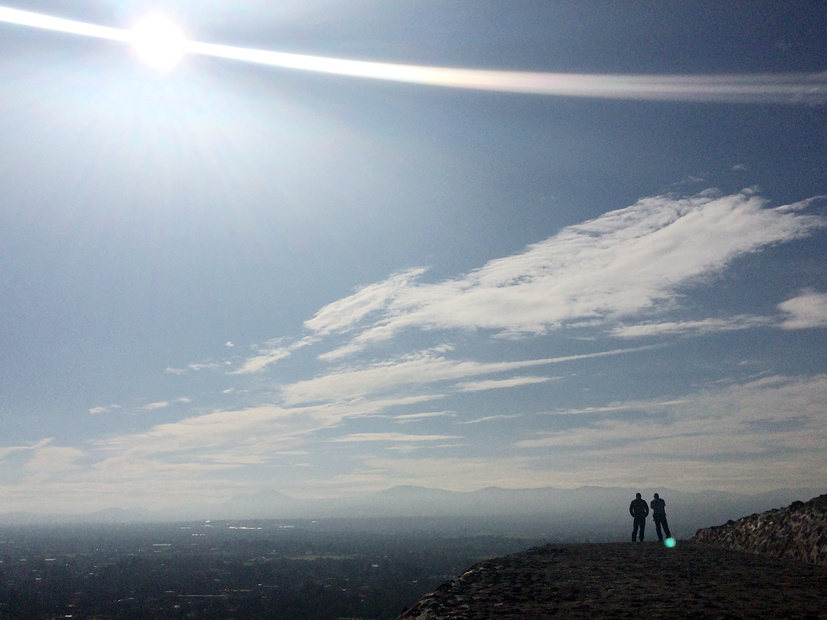
[[[351,522],[348,527],[453,527],[473,522],[475,531],[510,533],[514,528],[560,540],[624,540],[631,531],[629,502],[635,493],[648,500],[658,493],[667,502],[667,514],[676,537],[691,537],[709,527],[793,501],[806,501],[827,491],[777,489],[758,495],[674,489],[500,489],[454,492],[416,486],[398,486],[378,493],[347,498],[297,499],[275,490],[240,494],[218,505],[185,506],[172,510],[110,508],[84,515],[7,513],[0,525],[45,523],[170,522],[201,519],[327,519]],[[373,526],[371,526],[371,522]],[[394,526],[395,524],[395,526]],[[485,526],[485,527],[483,527]],[[651,526],[650,526],[651,527]]]

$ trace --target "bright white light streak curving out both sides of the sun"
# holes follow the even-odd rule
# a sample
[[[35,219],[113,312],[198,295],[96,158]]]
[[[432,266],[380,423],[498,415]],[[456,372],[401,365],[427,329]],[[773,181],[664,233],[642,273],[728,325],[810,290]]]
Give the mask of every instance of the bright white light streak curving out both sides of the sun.
[[[135,33],[0,7],[0,21],[115,41]],[[394,82],[564,97],[721,103],[810,103],[827,101],[827,72],[748,75],[600,75],[460,69],[342,60],[232,45],[183,41],[191,54]]]

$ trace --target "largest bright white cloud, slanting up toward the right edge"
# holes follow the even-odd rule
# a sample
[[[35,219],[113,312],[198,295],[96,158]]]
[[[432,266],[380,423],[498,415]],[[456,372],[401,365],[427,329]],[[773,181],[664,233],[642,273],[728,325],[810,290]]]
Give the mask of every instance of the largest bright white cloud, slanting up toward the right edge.
[[[644,198],[459,279],[422,284],[422,269],[396,274],[329,304],[305,325],[318,334],[358,328],[349,344],[322,356],[335,359],[409,327],[543,334],[571,322],[662,311],[675,306],[678,289],[734,258],[824,227],[824,218],[800,212],[807,203],[766,208],[744,193]]]

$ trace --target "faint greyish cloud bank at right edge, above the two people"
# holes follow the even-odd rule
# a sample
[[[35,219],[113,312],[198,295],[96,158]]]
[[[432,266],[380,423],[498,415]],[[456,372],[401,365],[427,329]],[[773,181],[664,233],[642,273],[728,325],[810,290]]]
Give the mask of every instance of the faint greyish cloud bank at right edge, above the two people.
[[[767,451],[817,451],[827,442],[827,375],[767,377],[676,401],[615,403],[582,413],[596,422],[519,441],[521,448],[566,448],[578,457],[725,459]],[[645,413],[612,417],[618,411]]]

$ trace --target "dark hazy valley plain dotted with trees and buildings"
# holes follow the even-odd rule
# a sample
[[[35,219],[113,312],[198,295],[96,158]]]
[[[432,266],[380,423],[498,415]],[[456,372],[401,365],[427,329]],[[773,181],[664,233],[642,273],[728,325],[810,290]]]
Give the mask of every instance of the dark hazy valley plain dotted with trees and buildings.
[[[391,620],[468,566],[542,542],[364,525],[0,529],[0,620]]]

